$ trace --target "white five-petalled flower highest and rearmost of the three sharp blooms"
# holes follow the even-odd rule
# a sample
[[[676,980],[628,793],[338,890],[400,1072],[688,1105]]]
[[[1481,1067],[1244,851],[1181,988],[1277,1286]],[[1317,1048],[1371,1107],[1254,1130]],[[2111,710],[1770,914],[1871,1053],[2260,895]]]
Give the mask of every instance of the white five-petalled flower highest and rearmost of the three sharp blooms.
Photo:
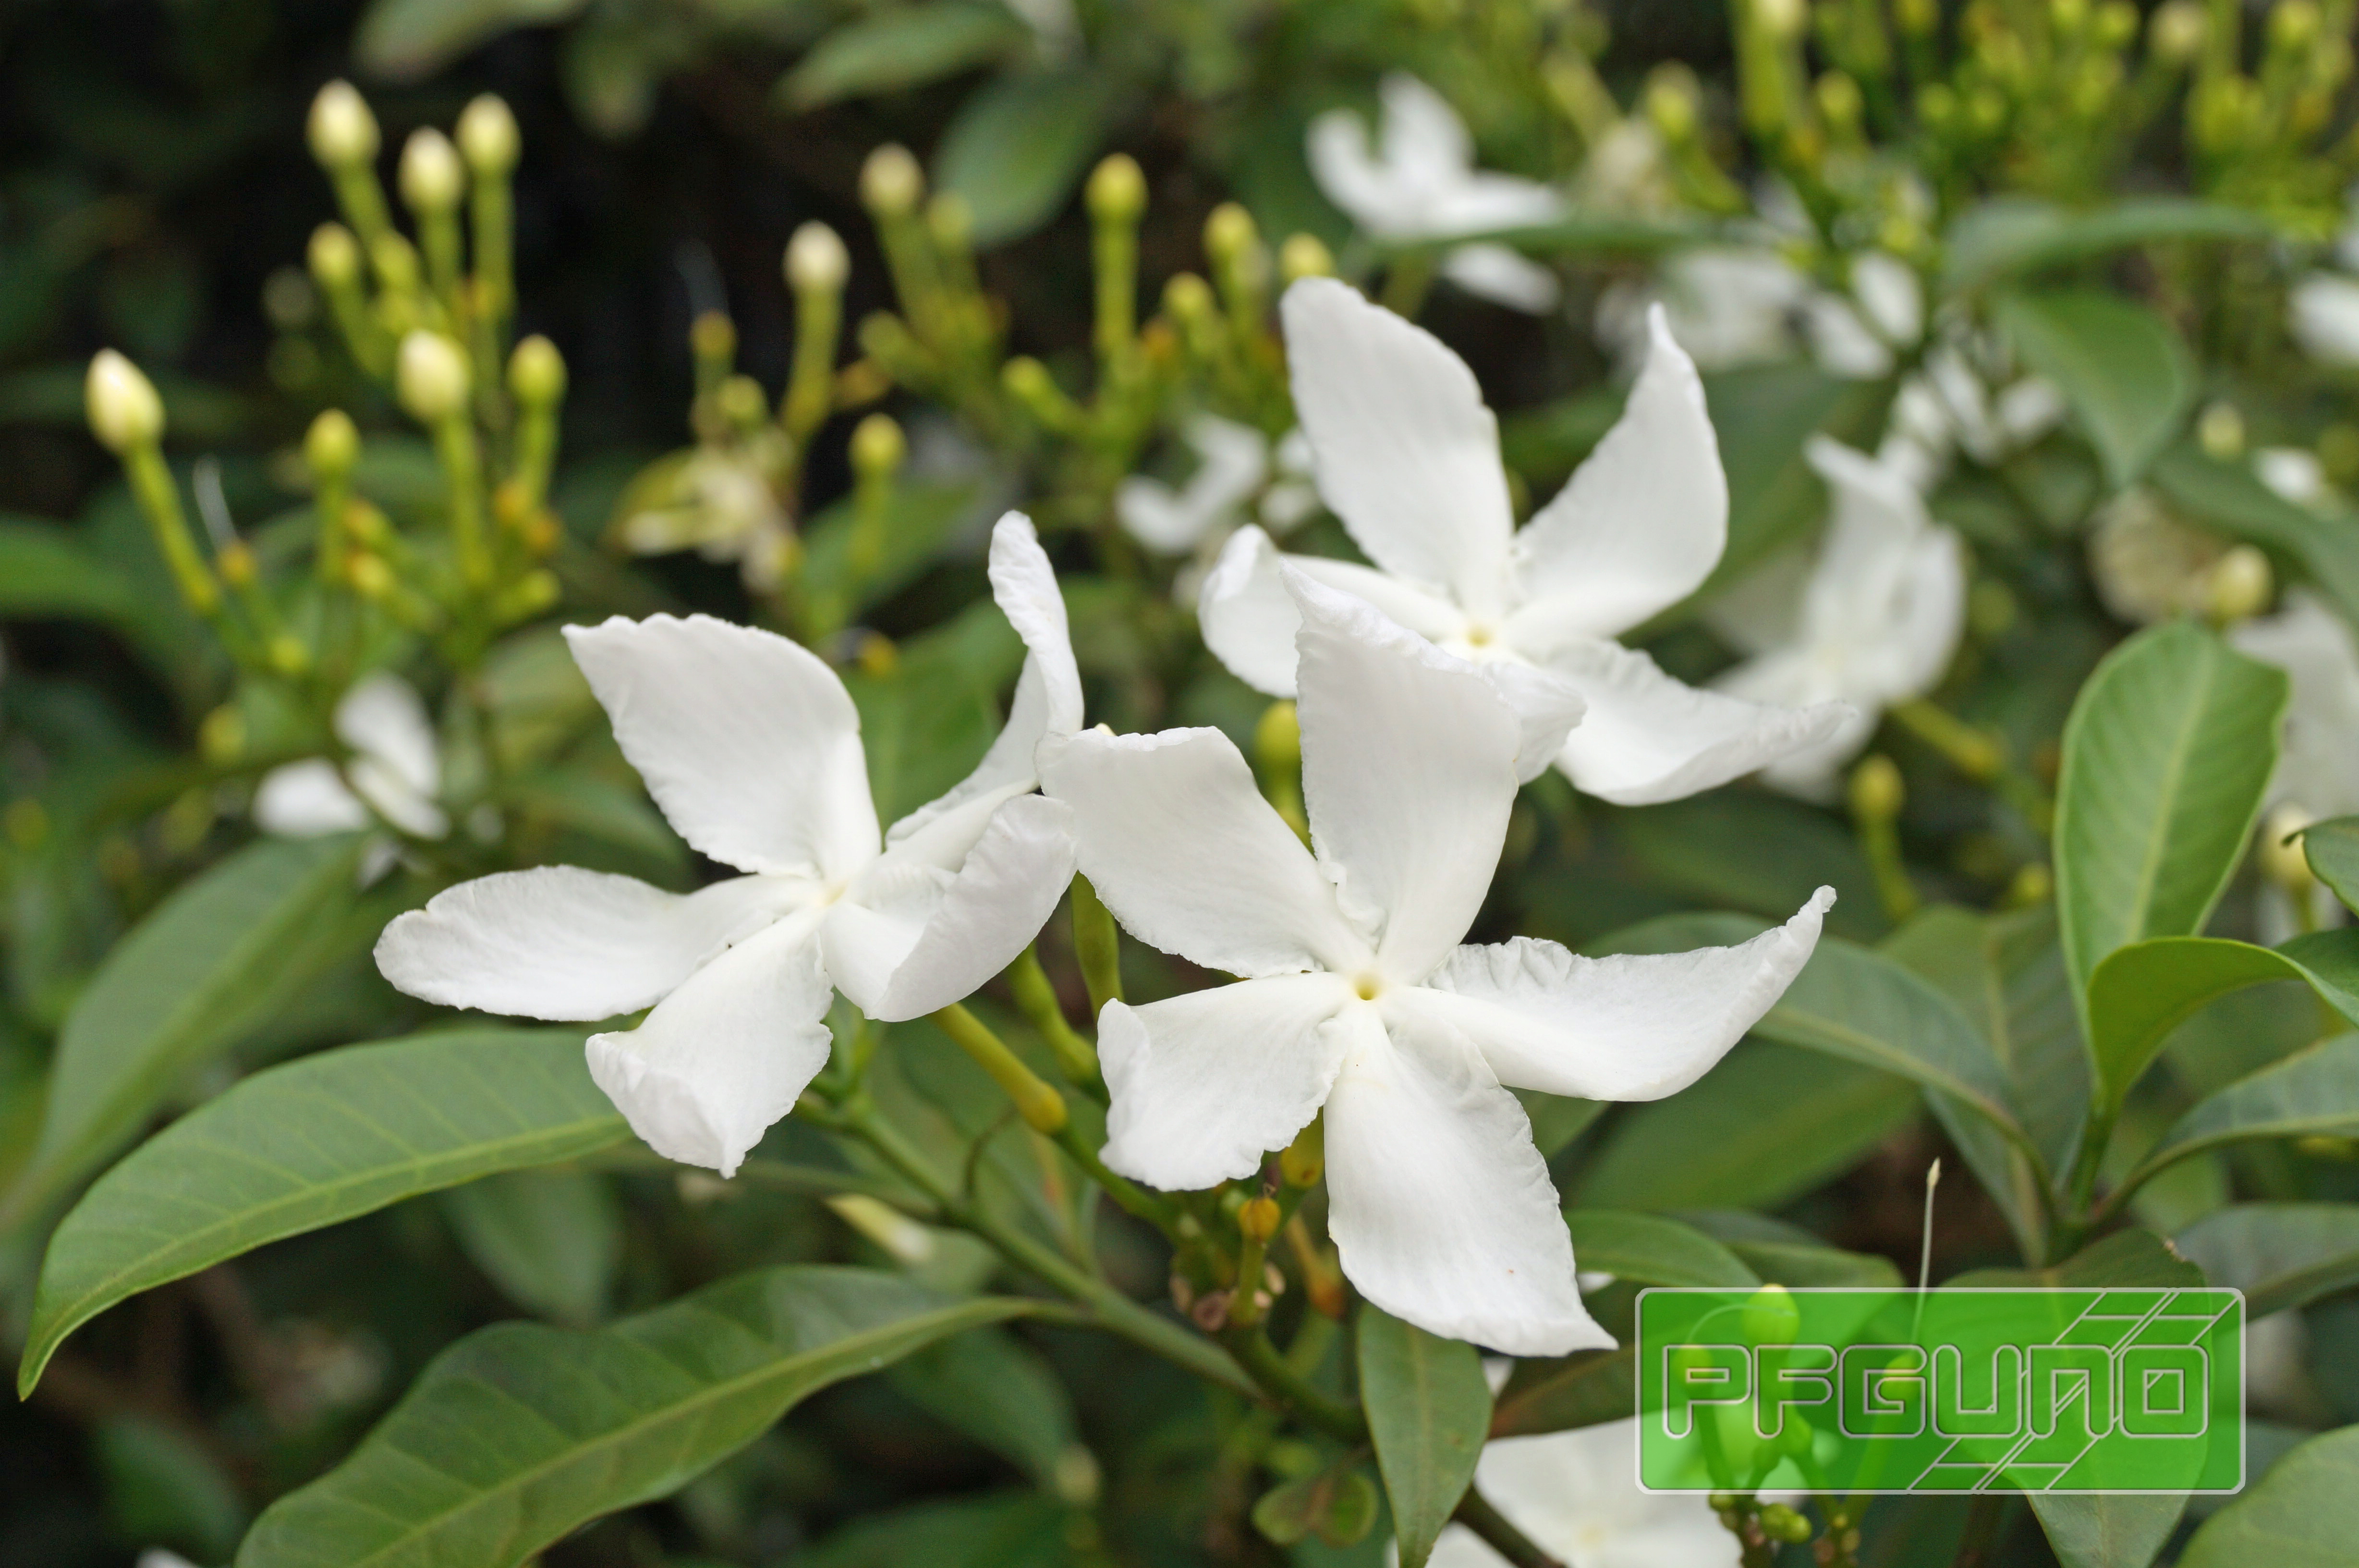
[[[1555,760],[1621,805],[1677,801],[1824,741],[1840,708],[1765,708],[1682,685],[1611,638],[1684,600],[1727,545],[1729,486],[1696,366],[1654,316],[1621,420],[1514,531],[1498,423],[1437,338],[1333,279],[1286,290],[1295,413],[1319,494],[1375,567],[1283,557],[1484,666],[1545,730],[1585,706]],[[1205,645],[1272,697],[1295,690],[1295,607],[1279,553],[1241,529],[1205,579]],[[1526,775],[1526,777],[1529,777]]]

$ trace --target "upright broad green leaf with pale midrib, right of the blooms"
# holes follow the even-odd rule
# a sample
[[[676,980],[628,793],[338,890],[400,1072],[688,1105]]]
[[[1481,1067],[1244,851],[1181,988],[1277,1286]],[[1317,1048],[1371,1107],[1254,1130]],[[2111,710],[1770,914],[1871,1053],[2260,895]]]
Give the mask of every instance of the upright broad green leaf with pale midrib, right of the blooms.
[[[2276,767],[2286,675],[2192,623],[2137,633],[2081,687],[2057,784],[2057,919],[2088,994],[2130,942],[2210,916]]]

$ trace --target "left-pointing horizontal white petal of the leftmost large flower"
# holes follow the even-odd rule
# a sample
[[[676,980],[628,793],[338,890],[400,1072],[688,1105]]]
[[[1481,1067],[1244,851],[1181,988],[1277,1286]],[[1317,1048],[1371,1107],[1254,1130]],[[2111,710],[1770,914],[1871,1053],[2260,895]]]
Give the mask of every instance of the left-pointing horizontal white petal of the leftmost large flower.
[[[786,876],[734,876],[682,897],[580,867],[500,871],[396,916],[377,937],[377,971],[446,1008],[613,1018],[651,1006],[814,893]]]

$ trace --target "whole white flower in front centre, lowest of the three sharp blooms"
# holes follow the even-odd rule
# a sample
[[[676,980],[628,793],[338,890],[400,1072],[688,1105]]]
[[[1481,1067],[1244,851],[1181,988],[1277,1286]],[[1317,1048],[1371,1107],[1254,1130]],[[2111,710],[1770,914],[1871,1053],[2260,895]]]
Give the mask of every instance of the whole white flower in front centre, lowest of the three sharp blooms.
[[[1397,1318],[1517,1355],[1611,1337],[1505,1086],[1651,1100],[1701,1077],[1809,959],[1833,890],[1743,947],[1460,947],[1524,723],[1481,671],[1286,571],[1316,855],[1220,730],[1078,734],[1043,758],[1080,869],[1142,942],[1238,985],[1106,1004],[1104,1159],[1168,1190],[1262,1169],[1326,1108],[1328,1230]]]

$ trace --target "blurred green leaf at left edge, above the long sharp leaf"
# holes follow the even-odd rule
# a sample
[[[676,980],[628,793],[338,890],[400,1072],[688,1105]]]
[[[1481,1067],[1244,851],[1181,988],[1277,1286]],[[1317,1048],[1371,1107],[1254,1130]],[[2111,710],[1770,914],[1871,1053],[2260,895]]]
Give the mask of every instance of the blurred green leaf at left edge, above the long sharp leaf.
[[[361,845],[361,834],[250,843],[106,954],[59,1032],[40,1143],[0,1221],[50,1204],[127,1143],[191,1067],[375,940],[387,909],[354,902]]]

